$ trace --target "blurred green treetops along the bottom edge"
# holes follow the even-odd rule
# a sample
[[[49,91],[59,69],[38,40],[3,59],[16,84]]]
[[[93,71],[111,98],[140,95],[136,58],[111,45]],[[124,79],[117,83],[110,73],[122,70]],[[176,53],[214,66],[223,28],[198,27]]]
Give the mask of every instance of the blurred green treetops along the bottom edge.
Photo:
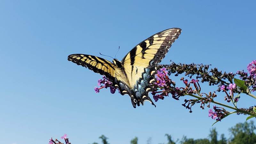
[[[234,127],[229,128],[229,132],[231,133],[231,136],[227,139],[224,134],[220,135],[220,139],[217,139],[218,132],[215,128],[212,128],[210,130],[209,139],[197,139],[194,140],[192,138],[187,138],[186,136],[183,136],[181,140],[172,140],[171,135],[165,134],[167,137],[167,143],[166,144],[256,144],[256,134],[254,133],[254,130],[256,129],[255,125],[253,124],[253,121],[251,122],[245,122],[245,123],[238,123]],[[107,141],[107,137],[104,135],[101,135],[99,137],[102,140],[103,144],[109,144]],[[132,139],[131,144],[138,144],[138,137],[135,137]],[[151,144],[151,138],[149,138],[146,142],[147,144]],[[98,143],[93,143],[98,144]],[[159,144],[165,144],[165,143],[159,143]]]

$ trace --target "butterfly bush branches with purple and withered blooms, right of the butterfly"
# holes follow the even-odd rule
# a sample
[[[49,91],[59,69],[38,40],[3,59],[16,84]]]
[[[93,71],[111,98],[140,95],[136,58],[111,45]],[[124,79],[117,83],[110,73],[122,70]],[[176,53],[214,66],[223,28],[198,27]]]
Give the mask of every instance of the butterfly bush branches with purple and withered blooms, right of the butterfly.
[[[203,64],[175,64],[172,62],[170,65],[158,65],[157,66],[157,74],[155,75],[157,82],[153,84],[154,92],[153,98],[155,101],[159,99],[164,100],[164,96],[172,95],[172,98],[175,100],[179,100],[182,96],[192,96],[196,99],[184,100],[185,108],[188,108],[190,111],[191,107],[196,103],[200,103],[200,108],[204,109],[205,104],[210,108],[210,104],[218,104],[222,107],[213,106],[213,109],[209,109],[208,116],[212,119],[216,120],[216,122],[221,121],[223,118],[227,117],[230,114],[245,114],[250,115],[247,119],[256,117],[256,107],[251,106],[248,108],[237,108],[236,104],[240,99],[240,94],[244,93],[252,98],[256,99],[256,96],[252,94],[256,90],[256,60],[253,60],[247,66],[247,70],[249,72],[249,76],[244,70],[237,71],[236,74],[230,73],[222,73],[218,71],[217,68],[209,69],[209,65]],[[168,75],[174,74],[174,76],[178,76],[182,73],[185,73],[185,76],[188,76],[190,79],[192,76],[196,76],[196,79],[184,79],[182,77],[180,80],[183,82],[183,87],[176,87],[175,82],[173,82]],[[239,76],[240,79],[236,79],[235,76]],[[218,89],[213,93],[201,92],[201,88],[199,85],[199,80],[201,79],[201,83],[208,82],[210,86],[218,85]],[[223,104],[214,100],[217,97],[216,92],[224,92],[220,93],[220,97],[224,98],[224,101],[228,103],[232,103],[230,105]],[[234,111],[229,112],[226,108],[231,108]],[[216,123],[215,122],[215,123]]]

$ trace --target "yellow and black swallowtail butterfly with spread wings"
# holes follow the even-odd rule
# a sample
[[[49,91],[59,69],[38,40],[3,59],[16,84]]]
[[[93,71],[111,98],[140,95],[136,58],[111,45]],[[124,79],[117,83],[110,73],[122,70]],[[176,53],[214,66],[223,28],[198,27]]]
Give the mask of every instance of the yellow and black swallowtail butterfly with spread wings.
[[[68,60],[105,75],[122,95],[130,96],[134,108],[144,105],[145,101],[156,107],[148,96],[153,91],[150,84],[156,82],[156,65],[163,60],[180,33],[180,28],[161,31],[136,45],[123,60],[113,59],[113,63],[86,54],[71,54]]]

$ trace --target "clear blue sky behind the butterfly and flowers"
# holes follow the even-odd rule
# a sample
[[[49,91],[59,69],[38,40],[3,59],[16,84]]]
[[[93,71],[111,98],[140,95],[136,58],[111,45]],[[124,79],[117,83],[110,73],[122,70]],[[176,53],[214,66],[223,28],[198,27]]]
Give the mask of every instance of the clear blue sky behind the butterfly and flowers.
[[[207,138],[209,130],[229,137],[228,128],[247,116],[215,124],[208,108],[185,109],[184,99],[167,97],[133,108],[127,95],[94,92],[102,76],[67,60],[74,53],[122,60],[144,39],[181,28],[162,64],[192,62],[236,73],[255,60],[256,2],[241,1],[1,1],[0,140],[3,144],[45,144],[66,133],[71,143],[140,144]],[[100,56],[109,61],[109,57]],[[183,86],[182,76],[170,76]],[[202,92],[217,86],[201,84]],[[224,93],[216,100],[226,103]],[[254,93],[255,95],[255,93]],[[151,99],[152,96],[151,96]],[[238,107],[255,100],[242,95]],[[255,120],[254,120],[255,121]],[[220,136],[220,135],[219,135]]]

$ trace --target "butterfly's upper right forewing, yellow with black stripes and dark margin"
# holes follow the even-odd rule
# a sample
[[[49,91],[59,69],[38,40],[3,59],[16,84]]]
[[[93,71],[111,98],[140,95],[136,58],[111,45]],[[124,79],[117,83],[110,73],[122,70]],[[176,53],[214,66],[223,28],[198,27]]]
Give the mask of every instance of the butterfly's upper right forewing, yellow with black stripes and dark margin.
[[[127,53],[122,62],[129,62],[130,65],[141,63],[147,68],[154,68],[163,60],[180,33],[180,28],[171,28],[150,36]]]

